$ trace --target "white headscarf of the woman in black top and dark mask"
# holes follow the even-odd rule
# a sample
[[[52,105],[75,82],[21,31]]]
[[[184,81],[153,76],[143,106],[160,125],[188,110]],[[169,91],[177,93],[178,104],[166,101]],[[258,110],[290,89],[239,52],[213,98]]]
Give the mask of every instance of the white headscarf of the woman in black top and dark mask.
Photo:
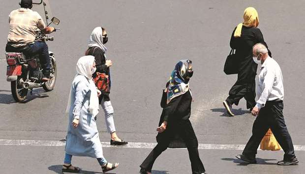
[[[89,39],[88,47],[99,47],[103,50],[104,53],[106,53],[107,48],[103,44],[103,30],[101,26],[93,29]]]

